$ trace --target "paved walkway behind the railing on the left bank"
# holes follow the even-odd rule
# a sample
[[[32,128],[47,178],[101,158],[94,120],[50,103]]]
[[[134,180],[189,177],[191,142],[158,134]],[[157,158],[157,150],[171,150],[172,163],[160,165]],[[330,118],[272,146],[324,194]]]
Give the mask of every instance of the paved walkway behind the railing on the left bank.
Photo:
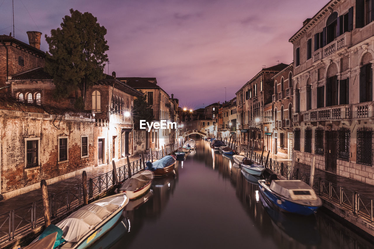
[[[135,160],[139,159],[139,155],[137,154],[137,155],[131,156],[131,157],[129,157],[129,159],[130,159],[130,162],[134,162]],[[120,159],[116,162],[116,167],[117,168],[120,167],[120,166],[123,166],[123,165],[127,165],[126,157],[124,157],[124,158],[122,158],[122,159]],[[90,172],[86,172],[87,173],[87,180],[89,178],[95,178],[96,176],[105,174],[105,173],[109,172],[110,170],[113,170],[113,165],[112,164],[95,167]],[[77,185],[77,184],[81,183],[81,182],[82,182],[82,174],[64,179],[64,180],[59,181],[59,182],[55,182],[55,183],[47,186],[48,194],[58,193],[58,192],[64,191],[64,190],[66,190],[70,187],[73,187],[74,185]],[[40,200],[40,199],[42,199],[42,192],[40,191],[40,188],[39,188],[39,189],[30,191],[28,193],[21,194],[19,196],[15,196],[15,197],[12,197],[12,198],[7,199],[7,200],[3,200],[2,202],[0,202],[0,213],[9,212],[10,210],[19,207],[20,204],[22,204],[24,206],[27,206],[30,203],[33,203],[34,201]]]

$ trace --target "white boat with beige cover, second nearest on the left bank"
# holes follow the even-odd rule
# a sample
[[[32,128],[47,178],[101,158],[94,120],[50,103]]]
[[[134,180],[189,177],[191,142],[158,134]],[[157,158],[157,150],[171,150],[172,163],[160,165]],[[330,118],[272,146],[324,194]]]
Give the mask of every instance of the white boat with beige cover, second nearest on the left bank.
[[[153,178],[153,172],[150,170],[143,170],[127,179],[119,188],[119,191],[126,193],[129,199],[136,199],[149,190]]]

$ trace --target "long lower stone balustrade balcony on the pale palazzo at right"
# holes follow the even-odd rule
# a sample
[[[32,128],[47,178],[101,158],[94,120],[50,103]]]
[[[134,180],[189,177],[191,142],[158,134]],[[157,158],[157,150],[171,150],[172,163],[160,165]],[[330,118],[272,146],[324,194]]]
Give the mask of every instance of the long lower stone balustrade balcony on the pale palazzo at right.
[[[304,112],[304,122],[351,119],[350,105],[334,105]]]

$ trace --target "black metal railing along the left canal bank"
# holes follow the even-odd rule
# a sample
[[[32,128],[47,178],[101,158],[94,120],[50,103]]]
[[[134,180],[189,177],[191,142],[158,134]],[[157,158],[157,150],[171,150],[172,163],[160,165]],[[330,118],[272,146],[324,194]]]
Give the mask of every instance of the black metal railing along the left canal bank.
[[[181,145],[172,144],[165,147],[163,151],[152,151],[153,159],[173,153]],[[179,147],[178,147],[179,146]],[[165,154],[166,153],[166,154]],[[150,161],[150,154],[144,155],[144,161]],[[144,169],[142,158],[130,163],[131,174],[135,174]],[[124,181],[129,178],[129,165],[123,165],[116,169],[118,181]],[[100,195],[111,190],[115,184],[113,170],[90,178],[87,181],[87,191],[89,200],[95,199]],[[52,220],[71,212],[83,205],[83,183],[74,185],[67,190],[49,195],[49,209]],[[44,225],[43,200],[37,200],[28,205],[13,209],[9,212],[0,214],[0,244],[13,240],[15,236],[21,233],[31,231],[36,227]]]

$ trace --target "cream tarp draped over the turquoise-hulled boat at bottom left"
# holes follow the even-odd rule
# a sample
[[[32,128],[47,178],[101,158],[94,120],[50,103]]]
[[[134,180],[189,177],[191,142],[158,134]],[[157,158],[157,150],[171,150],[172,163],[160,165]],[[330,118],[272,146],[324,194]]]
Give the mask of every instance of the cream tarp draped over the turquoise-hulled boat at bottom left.
[[[61,228],[67,242],[78,242],[88,231],[124,205],[127,199],[126,195],[113,196],[88,204],[58,222],[56,226]]]

